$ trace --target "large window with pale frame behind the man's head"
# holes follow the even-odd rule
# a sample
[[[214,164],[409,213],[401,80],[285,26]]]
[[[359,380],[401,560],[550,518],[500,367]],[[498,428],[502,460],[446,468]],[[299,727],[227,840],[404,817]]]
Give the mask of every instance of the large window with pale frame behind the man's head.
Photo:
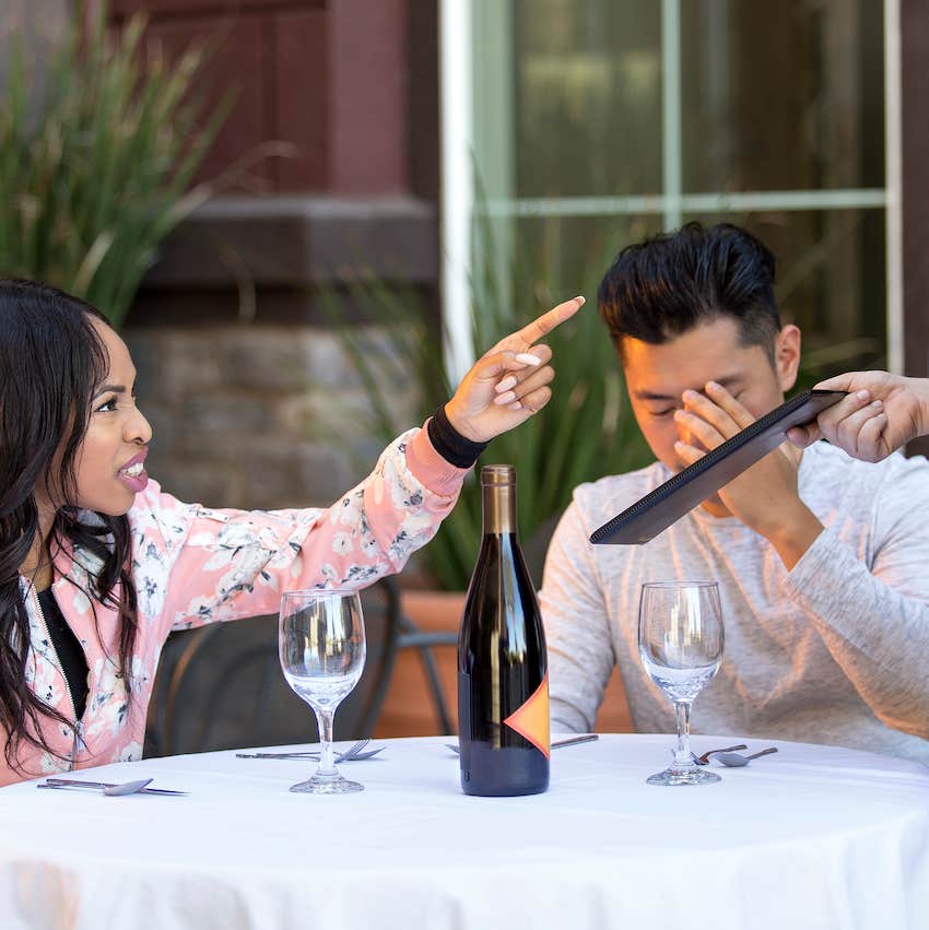
[[[631,242],[739,223],[813,368],[886,364],[882,3],[472,0],[468,46],[478,261],[591,294]]]

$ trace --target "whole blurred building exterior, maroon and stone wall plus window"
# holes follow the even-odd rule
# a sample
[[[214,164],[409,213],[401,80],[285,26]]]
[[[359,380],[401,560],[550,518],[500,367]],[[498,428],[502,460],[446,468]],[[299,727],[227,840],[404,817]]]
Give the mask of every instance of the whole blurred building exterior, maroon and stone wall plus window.
[[[49,4],[67,7],[43,0],[35,15]],[[443,113],[443,86],[462,76],[439,55],[452,7],[468,15],[451,40],[472,103]],[[320,289],[364,269],[438,311],[443,120],[468,126],[475,260],[499,264],[517,311],[515,261],[552,299],[592,295],[626,243],[732,221],[776,252],[811,375],[927,374],[919,0],[109,5],[115,27],[139,11],[169,54],[205,39],[204,92],[233,95],[201,172],[217,196],[165,245],[126,331],[157,437],[152,471],[181,497],[321,504],[358,476],[314,438],[333,398],[364,403]],[[358,444],[372,461],[376,444]]]

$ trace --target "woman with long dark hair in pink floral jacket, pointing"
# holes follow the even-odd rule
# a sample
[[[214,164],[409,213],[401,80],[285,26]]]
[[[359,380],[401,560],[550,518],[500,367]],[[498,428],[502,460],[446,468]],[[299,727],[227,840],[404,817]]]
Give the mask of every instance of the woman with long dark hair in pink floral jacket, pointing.
[[[484,445],[545,404],[551,350],[533,343],[583,303],[497,343],[329,509],[245,513],[149,481],[136,370],[93,307],[0,280],[0,785],[139,758],[172,629],[400,570]]]

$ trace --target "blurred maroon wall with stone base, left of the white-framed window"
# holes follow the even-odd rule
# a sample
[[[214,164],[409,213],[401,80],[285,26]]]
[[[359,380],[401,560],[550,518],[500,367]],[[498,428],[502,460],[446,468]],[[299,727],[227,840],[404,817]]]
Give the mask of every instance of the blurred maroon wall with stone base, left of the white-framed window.
[[[200,172],[217,193],[166,243],[127,321],[155,428],[152,473],[211,504],[329,503],[363,466],[319,439],[320,410],[351,410],[364,391],[321,289],[364,272],[436,299],[437,10],[110,4],[116,27],[137,12],[168,55],[205,42],[204,92],[216,105],[231,95]],[[402,401],[404,386],[395,390]],[[377,444],[354,446],[371,467]]]

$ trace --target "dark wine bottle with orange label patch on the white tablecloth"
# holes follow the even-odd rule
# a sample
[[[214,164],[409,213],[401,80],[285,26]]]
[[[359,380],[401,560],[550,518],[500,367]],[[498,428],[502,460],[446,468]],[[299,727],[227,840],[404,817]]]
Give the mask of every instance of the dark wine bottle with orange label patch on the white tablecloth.
[[[549,787],[549,675],[536,589],[516,532],[516,470],[481,469],[484,534],[458,635],[458,740],[466,794]]]

